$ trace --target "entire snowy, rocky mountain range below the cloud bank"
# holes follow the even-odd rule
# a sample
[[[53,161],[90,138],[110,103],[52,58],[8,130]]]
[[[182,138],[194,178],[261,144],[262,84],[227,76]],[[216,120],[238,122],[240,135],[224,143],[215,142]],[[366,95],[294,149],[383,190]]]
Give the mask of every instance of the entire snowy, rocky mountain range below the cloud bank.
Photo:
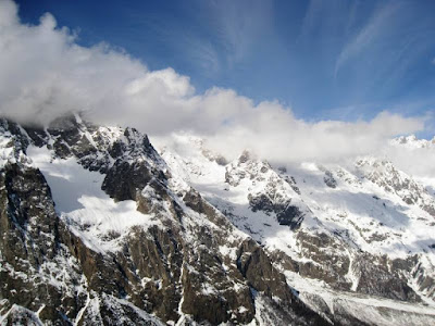
[[[158,148],[0,121],[2,324],[435,323],[435,198],[390,162]]]

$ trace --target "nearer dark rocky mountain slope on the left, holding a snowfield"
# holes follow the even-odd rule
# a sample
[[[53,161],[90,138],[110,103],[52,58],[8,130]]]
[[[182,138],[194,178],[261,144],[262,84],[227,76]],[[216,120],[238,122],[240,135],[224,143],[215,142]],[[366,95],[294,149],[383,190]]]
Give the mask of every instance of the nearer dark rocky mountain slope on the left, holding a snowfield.
[[[2,323],[339,323],[135,129],[0,127]]]

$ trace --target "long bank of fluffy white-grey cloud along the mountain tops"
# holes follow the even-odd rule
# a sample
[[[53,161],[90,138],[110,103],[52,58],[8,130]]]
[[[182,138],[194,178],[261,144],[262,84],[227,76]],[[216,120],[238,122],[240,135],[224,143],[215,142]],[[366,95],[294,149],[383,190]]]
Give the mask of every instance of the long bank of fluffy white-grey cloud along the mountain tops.
[[[16,5],[1,1],[1,115],[44,125],[71,112],[151,136],[188,130],[228,156],[248,148],[276,162],[363,154],[424,126],[424,118],[388,112],[369,122],[309,123],[277,102],[254,104],[231,89],[196,93],[172,68],[149,71],[107,45],[82,47],[50,14],[38,25],[22,24]]]

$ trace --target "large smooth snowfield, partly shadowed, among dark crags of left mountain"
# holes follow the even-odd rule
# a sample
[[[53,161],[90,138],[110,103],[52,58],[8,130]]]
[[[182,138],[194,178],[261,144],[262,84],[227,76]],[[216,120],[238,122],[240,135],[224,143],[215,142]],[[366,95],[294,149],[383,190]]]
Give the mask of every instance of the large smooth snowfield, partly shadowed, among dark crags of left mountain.
[[[46,177],[60,217],[92,250],[116,251],[130,227],[160,225],[153,216],[138,212],[135,201],[111,199],[101,190],[104,175],[85,170],[75,158],[53,158],[47,147],[34,146],[27,155]]]

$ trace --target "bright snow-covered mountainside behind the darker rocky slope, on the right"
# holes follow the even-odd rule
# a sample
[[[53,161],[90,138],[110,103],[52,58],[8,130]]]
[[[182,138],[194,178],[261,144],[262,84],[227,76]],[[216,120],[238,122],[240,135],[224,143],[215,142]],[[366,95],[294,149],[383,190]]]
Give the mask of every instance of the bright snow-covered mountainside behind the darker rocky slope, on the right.
[[[376,158],[271,166],[245,152],[217,162],[189,135],[159,148],[173,171],[261,243],[323,316],[346,311],[369,325],[433,324],[431,187]],[[420,313],[425,317],[414,318]]]

